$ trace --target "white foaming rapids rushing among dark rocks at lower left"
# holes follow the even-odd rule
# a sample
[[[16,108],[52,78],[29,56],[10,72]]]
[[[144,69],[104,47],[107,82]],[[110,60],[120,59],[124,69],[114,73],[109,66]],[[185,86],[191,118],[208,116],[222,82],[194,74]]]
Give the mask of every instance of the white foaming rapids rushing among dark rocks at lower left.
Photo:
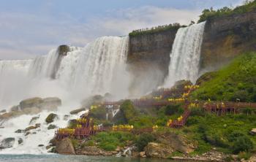
[[[80,112],[78,115],[69,115],[69,117],[64,117],[64,113],[57,112],[58,118],[56,118],[53,123],[47,124],[45,122],[45,118],[51,112],[41,112],[38,115],[21,115],[19,117],[12,118],[7,120],[1,128],[1,136],[0,139],[5,138],[15,138],[15,143],[13,147],[6,148],[0,150],[0,154],[46,154],[50,149],[46,149],[48,146],[50,139],[53,139],[56,129],[48,130],[48,126],[53,124],[59,128],[63,128],[67,126],[68,120],[76,119],[81,114],[85,113],[85,111]],[[56,113],[56,112],[53,112]],[[32,117],[39,117],[39,119],[35,120],[33,123],[29,124]],[[26,133],[15,133],[18,129],[25,129],[29,126],[34,126],[35,123],[41,124],[39,128],[32,129],[30,132],[31,134]],[[18,140],[22,139],[23,142],[18,144]],[[0,140],[1,141],[1,140]],[[43,146],[39,147],[39,144],[43,144]]]

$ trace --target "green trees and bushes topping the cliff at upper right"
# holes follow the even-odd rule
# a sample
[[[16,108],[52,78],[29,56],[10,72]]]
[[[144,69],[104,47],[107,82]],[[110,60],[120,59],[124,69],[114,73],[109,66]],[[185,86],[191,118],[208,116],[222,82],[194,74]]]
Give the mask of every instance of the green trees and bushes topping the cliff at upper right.
[[[242,14],[245,12],[250,12],[254,9],[256,9],[256,1],[245,1],[244,5],[236,7],[235,9],[223,7],[222,9],[214,10],[211,7],[211,9],[203,10],[202,15],[200,15],[200,19],[198,20],[198,23],[225,15]]]

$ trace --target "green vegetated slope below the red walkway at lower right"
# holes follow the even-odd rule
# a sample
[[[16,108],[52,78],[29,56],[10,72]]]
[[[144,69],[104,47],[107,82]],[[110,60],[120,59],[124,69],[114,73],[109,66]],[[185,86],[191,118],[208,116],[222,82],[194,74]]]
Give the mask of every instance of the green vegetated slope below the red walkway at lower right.
[[[211,147],[217,147],[221,152],[238,154],[254,150],[256,137],[249,135],[249,131],[255,124],[255,115],[217,116],[205,113],[189,117],[187,127],[181,130],[189,138],[197,140],[195,153],[205,153]]]

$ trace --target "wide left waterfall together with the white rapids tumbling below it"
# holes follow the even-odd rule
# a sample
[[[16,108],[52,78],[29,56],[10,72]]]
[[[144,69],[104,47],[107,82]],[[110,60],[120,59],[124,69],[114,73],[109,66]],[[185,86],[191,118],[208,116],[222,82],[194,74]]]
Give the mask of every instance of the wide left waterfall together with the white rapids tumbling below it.
[[[104,36],[83,48],[70,47],[69,53],[61,58],[57,70],[57,50],[29,61],[0,61],[0,110],[31,97],[57,96],[63,106],[54,112],[59,119],[53,124],[64,127],[67,126],[64,115],[80,106],[79,102],[89,95],[112,93],[123,98],[128,92],[129,83],[125,70],[128,40],[128,36]],[[53,73],[56,73],[54,78]],[[68,101],[75,101],[77,105]],[[38,115],[22,115],[1,123],[4,132],[0,134],[0,141],[14,137],[15,144],[12,148],[0,150],[0,153],[47,153],[45,146],[54,136],[54,129],[48,130],[45,123],[49,113],[39,113],[37,123],[41,126],[28,136],[15,131],[34,126],[29,124],[29,120]],[[77,117],[79,115],[71,115],[69,119]],[[20,138],[23,144],[18,144]],[[44,146],[39,147],[39,144]]]

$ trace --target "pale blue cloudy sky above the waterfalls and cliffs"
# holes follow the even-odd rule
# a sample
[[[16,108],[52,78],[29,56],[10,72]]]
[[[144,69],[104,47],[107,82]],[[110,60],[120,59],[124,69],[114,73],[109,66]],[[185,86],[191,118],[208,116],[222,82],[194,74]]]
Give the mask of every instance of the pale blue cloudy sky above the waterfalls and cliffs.
[[[0,59],[34,58],[59,45],[83,47],[99,36],[188,24],[202,9],[244,0],[0,0]]]

